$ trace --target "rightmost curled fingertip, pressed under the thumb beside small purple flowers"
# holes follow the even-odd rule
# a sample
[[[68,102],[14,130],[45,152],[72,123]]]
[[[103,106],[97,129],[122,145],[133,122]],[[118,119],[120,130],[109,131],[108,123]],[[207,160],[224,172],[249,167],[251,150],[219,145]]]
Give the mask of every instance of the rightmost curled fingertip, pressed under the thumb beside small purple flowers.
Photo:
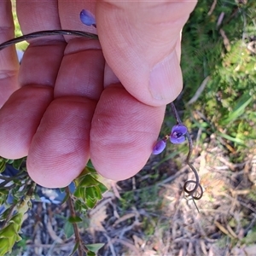
[[[103,177],[123,180],[139,172],[152,153],[165,107],[137,101],[121,84],[109,85],[90,130],[90,159]]]

